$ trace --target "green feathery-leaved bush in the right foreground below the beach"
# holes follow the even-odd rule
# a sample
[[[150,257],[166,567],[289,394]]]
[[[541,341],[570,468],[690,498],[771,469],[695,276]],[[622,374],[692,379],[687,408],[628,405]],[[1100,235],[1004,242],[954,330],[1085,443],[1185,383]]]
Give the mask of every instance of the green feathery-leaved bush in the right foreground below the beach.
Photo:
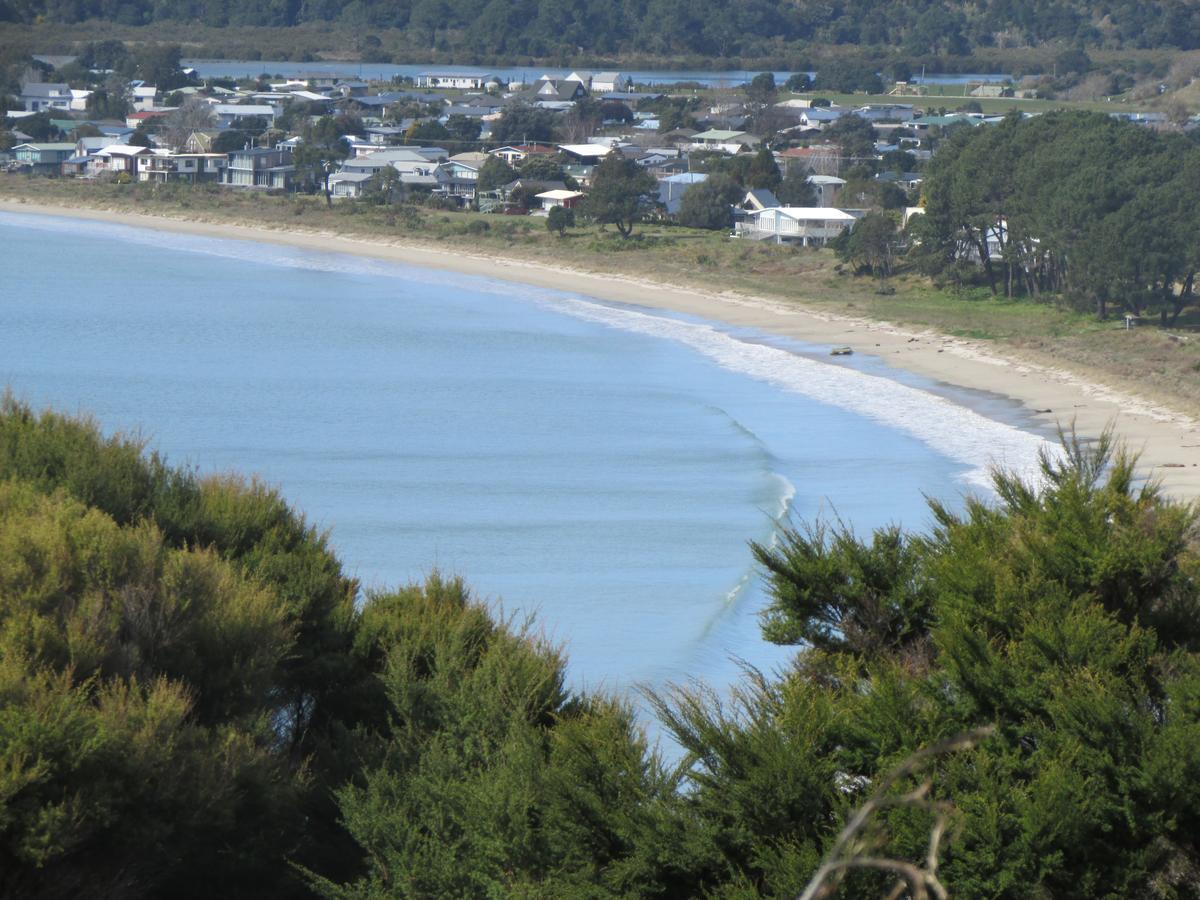
[[[1177,700],[1200,690],[1196,510],[1138,486],[1108,436],[1068,440],[1043,478],[1039,492],[997,475],[996,506],[934,504],[925,539],[809,528],[756,548],[768,635],[814,648],[732,709],[690,690],[658,704],[697,762],[690,803],[744,835],[721,852],[757,890],[798,892],[856,785],[986,722],[994,738],[931,773],[959,810],[950,895],[1200,890],[1195,814],[1180,805],[1195,796],[1200,704]],[[887,854],[922,859],[926,816],[895,808],[883,827]],[[846,895],[886,889],[865,878]]]

